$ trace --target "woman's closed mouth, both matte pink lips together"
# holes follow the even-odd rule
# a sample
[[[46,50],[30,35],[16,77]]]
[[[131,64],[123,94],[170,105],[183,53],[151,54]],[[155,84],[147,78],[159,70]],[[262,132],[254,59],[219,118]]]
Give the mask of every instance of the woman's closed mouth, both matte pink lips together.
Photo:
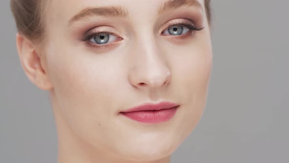
[[[121,111],[120,114],[134,121],[155,124],[169,121],[175,115],[178,108],[178,104],[171,102],[161,102],[158,104],[145,103]]]

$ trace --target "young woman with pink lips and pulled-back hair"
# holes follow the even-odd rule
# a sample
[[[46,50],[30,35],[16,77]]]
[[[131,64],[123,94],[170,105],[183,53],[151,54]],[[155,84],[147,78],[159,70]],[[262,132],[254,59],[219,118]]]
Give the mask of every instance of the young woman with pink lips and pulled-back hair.
[[[11,0],[58,163],[169,163],[206,106],[210,0]]]

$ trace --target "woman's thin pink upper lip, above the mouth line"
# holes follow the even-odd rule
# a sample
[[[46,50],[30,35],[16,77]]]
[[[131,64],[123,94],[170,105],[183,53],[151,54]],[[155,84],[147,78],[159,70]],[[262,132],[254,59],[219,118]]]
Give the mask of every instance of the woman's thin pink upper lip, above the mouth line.
[[[121,112],[132,112],[132,111],[143,111],[143,110],[160,110],[160,109],[170,109],[177,107],[178,104],[172,102],[161,102],[157,104],[153,103],[145,103],[136,107],[132,107],[130,109],[126,109]]]

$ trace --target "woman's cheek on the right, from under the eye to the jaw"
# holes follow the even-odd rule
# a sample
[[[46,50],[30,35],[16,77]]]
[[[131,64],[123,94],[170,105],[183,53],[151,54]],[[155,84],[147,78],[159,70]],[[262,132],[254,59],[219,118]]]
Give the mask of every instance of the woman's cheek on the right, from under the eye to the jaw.
[[[209,39],[196,42],[193,46],[177,49],[173,61],[173,78],[178,86],[174,92],[182,97],[176,127],[181,138],[186,138],[199,122],[206,105],[208,84],[212,70],[212,48]]]

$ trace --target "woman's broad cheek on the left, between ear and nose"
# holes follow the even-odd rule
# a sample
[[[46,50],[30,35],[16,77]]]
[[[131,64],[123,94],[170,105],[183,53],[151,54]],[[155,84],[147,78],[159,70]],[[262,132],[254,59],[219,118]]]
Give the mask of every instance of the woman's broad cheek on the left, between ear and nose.
[[[63,115],[77,130],[102,123],[115,111],[109,108],[121,82],[123,70],[116,69],[120,63],[107,55],[60,45],[48,54],[48,69]]]

